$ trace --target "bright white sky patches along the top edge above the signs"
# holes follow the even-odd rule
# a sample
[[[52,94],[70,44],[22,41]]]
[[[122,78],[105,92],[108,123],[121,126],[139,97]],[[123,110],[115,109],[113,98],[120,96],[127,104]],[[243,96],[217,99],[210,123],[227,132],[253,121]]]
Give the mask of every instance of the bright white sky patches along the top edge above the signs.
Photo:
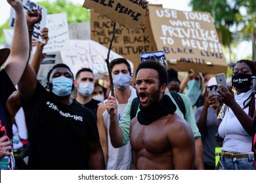
[[[39,2],[43,0],[32,0],[33,2]],[[49,1],[54,1],[54,0],[49,0]],[[73,2],[77,5],[83,5],[84,0],[67,0],[70,2]],[[177,9],[177,10],[186,10],[190,11],[192,8],[188,7],[188,3],[190,0],[179,0],[179,3],[175,0],[148,0],[150,3],[163,3],[164,8],[172,8],[172,9]],[[7,3],[6,0],[1,0],[1,5],[0,5],[0,25],[5,24],[5,22],[8,20],[10,17],[10,12],[11,12],[11,6],[9,3]]]

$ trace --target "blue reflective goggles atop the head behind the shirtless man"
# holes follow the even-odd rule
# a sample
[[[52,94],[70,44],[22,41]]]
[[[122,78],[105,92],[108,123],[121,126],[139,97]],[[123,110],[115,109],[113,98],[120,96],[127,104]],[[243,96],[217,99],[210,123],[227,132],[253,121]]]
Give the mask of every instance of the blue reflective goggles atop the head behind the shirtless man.
[[[140,61],[159,61],[165,66],[165,68],[167,68],[167,61],[163,51],[142,53],[140,54]]]

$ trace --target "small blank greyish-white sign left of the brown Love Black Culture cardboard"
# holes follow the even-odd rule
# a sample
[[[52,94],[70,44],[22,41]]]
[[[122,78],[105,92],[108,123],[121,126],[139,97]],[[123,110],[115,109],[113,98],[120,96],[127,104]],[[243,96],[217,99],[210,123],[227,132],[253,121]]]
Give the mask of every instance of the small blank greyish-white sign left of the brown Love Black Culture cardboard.
[[[91,26],[90,22],[68,24],[68,33],[70,35],[70,39],[81,39],[81,40],[91,39],[90,26]]]

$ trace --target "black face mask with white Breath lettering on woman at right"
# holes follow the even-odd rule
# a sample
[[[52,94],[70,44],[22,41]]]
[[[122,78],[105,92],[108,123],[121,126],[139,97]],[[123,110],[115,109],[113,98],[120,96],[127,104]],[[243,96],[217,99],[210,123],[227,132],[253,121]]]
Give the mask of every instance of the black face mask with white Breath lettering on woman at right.
[[[232,85],[237,89],[250,88],[252,84],[250,74],[238,73],[232,76]]]

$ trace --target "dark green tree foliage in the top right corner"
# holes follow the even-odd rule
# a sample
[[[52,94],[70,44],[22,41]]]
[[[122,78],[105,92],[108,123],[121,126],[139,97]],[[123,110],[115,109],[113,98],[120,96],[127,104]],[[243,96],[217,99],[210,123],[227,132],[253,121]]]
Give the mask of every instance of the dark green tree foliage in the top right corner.
[[[255,0],[190,0],[190,5],[193,10],[211,13],[221,44],[228,48],[230,59],[232,54],[236,54],[232,53],[232,46],[241,41],[232,37],[232,31],[256,35]],[[242,8],[245,9],[245,14],[242,14]],[[256,38],[253,42],[256,42]],[[254,52],[256,54],[256,50]]]

